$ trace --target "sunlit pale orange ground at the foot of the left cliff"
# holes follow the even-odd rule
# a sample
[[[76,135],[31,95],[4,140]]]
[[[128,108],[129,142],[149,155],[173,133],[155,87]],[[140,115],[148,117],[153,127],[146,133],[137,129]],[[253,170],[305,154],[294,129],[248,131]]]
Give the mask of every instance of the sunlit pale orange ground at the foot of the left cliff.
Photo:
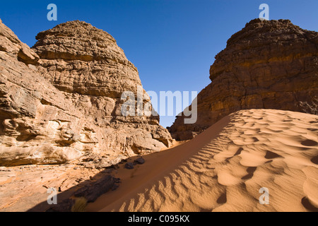
[[[93,182],[90,178],[95,175],[101,177],[99,172],[72,164],[0,167],[0,212],[25,212],[35,206],[34,211],[45,211],[49,188],[60,191],[62,201],[78,184]]]

